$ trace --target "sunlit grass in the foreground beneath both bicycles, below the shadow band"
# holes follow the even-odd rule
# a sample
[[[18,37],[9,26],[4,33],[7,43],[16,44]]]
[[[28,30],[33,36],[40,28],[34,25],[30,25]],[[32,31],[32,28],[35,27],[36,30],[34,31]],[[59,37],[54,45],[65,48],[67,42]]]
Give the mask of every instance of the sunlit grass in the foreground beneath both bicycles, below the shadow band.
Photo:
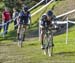
[[[70,31],[70,30],[69,30]],[[71,31],[70,34],[75,34]],[[73,35],[75,36],[75,35]],[[71,37],[71,36],[70,36]],[[69,38],[70,38],[69,37]],[[38,37],[26,39],[23,48],[17,42],[3,40],[0,42],[0,62],[3,63],[74,63],[74,37],[65,44],[65,33],[54,37],[54,52],[52,57],[44,56]]]

